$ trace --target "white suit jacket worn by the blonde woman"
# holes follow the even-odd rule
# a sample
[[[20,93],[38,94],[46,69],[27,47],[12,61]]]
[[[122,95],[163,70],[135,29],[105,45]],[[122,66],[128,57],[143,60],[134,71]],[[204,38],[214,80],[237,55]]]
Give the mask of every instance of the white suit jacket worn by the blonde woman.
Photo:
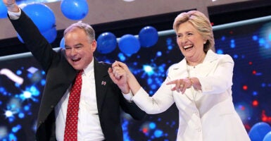
[[[186,59],[168,69],[168,76],[158,91],[149,97],[141,89],[132,100],[147,114],[159,114],[174,102],[179,110],[178,141],[247,141],[250,140],[232,102],[234,61],[229,55],[209,50],[203,63],[187,66]],[[184,94],[171,91],[167,82],[196,77],[201,90],[188,88]]]

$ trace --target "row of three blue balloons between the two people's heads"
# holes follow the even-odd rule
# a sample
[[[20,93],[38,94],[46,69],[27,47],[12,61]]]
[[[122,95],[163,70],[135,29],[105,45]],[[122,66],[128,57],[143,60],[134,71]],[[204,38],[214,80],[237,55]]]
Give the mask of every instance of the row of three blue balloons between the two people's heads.
[[[152,47],[158,41],[158,32],[151,26],[143,27],[138,38],[134,35],[123,35],[118,40],[118,47],[124,54],[135,54],[140,47]],[[117,39],[111,32],[104,32],[97,39],[97,50],[101,54],[108,54],[117,46]]]

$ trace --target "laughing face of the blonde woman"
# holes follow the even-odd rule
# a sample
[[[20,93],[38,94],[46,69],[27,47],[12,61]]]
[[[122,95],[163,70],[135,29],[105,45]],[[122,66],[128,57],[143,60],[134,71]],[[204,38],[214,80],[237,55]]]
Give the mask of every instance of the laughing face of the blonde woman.
[[[206,39],[203,39],[191,23],[185,22],[180,24],[176,35],[179,49],[187,61],[203,61],[202,57],[205,56],[203,44],[206,43]]]

